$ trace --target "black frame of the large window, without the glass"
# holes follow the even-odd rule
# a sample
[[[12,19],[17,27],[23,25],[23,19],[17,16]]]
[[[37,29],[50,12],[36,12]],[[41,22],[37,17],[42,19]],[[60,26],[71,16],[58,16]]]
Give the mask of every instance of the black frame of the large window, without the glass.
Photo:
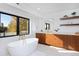
[[[28,33],[26,34],[21,34],[21,35],[29,35],[30,34],[30,19],[29,18],[26,18],[26,17],[22,17],[22,16],[17,16],[17,15],[14,15],[14,14],[10,14],[10,13],[6,13],[6,12],[2,12],[0,11],[0,21],[1,21],[1,14],[5,14],[5,15],[10,15],[10,16],[14,16],[17,18],[16,20],[16,34],[15,35],[7,35],[7,36],[0,36],[0,38],[4,38],[4,37],[12,37],[12,36],[18,36],[20,35],[20,31],[19,31],[19,18],[24,18],[24,19],[27,19],[28,20]]]

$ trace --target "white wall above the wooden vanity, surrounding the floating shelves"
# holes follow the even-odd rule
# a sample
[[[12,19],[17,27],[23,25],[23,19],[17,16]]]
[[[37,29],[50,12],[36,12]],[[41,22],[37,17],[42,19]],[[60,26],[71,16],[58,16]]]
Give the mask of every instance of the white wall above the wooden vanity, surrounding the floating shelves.
[[[79,9],[73,9],[73,10],[67,10],[67,11],[62,11],[59,13],[56,13],[52,15],[52,18],[40,18],[39,20],[36,20],[36,31],[41,32],[41,29],[43,32],[45,32],[45,22],[49,22],[51,25],[50,32],[55,32],[55,29],[59,28],[60,30],[58,33],[67,33],[67,34],[72,34],[79,32],[79,26],[60,26],[61,24],[79,24],[79,19],[69,19],[69,20],[60,20],[64,15],[71,15],[72,12],[77,12],[75,16],[79,16]]]

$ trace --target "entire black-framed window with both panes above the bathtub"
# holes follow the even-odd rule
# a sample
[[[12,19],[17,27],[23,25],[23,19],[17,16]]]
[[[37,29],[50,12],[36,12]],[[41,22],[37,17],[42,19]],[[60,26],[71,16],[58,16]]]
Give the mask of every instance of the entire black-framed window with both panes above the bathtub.
[[[29,34],[29,19],[0,12],[0,37]]]

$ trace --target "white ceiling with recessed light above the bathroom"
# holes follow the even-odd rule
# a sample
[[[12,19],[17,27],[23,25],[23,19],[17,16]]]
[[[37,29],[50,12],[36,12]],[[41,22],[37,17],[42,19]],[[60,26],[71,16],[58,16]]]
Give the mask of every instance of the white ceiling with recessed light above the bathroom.
[[[10,3],[9,5],[47,18],[52,18],[55,13],[79,8],[79,3]]]

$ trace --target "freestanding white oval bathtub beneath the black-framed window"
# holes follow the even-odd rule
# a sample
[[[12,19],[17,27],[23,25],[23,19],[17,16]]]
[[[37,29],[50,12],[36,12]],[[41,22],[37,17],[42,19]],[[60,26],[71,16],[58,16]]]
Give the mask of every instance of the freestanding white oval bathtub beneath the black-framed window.
[[[28,38],[8,44],[9,54],[12,56],[27,56],[33,53],[38,46],[37,38]]]

